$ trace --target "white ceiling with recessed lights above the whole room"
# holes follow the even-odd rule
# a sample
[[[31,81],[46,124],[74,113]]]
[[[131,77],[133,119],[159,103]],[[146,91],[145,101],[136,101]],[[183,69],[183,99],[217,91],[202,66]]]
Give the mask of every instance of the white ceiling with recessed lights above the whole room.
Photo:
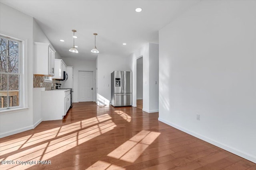
[[[61,57],[94,60],[97,54],[126,57],[144,43],[158,43],[158,30],[199,0],[1,0],[35,18]],[[142,12],[135,12],[136,8]],[[68,50],[75,45],[79,53]],[[65,40],[61,42],[60,39]],[[127,45],[122,45],[127,43]]]

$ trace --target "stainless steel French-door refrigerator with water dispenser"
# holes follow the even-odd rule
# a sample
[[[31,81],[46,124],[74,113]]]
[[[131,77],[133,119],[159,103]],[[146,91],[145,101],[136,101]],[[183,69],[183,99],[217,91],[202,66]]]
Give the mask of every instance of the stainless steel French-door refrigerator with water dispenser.
[[[111,105],[132,106],[132,72],[111,73]]]

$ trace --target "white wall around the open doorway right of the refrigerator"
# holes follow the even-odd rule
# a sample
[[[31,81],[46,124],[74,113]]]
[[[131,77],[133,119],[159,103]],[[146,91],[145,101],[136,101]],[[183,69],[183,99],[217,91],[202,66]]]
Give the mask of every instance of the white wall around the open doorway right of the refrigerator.
[[[143,56],[143,111],[153,113],[158,111],[158,44],[146,43],[130,55],[132,71],[134,72],[133,89],[136,89],[137,59]],[[157,81],[157,84],[155,84]],[[153,90],[153,91],[152,91]],[[136,107],[137,97],[133,96],[133,106]]]

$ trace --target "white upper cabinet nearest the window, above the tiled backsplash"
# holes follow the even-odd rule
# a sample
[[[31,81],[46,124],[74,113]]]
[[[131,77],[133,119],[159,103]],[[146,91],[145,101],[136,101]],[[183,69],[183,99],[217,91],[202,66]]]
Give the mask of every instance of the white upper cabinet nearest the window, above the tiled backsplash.
[[[34,42],[34,73],[54,76],[55,50],[49,43]]]

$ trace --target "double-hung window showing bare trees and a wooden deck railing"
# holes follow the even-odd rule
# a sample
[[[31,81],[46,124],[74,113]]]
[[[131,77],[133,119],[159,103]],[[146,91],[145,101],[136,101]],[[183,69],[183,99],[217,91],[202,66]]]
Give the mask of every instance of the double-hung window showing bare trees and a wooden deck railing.
[[[21,41],[0,36],[0,109],[22,107]]]

